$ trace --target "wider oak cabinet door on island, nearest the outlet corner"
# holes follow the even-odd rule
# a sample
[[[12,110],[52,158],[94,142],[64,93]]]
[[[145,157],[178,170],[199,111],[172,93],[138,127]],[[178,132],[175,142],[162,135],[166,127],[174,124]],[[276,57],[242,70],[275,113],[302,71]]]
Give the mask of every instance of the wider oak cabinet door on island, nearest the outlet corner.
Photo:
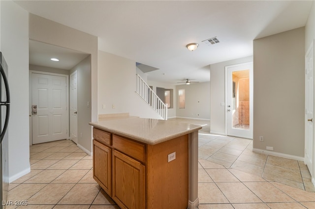
[[[145,166],[113,150],[113,200],[124,209],[145,209]]]

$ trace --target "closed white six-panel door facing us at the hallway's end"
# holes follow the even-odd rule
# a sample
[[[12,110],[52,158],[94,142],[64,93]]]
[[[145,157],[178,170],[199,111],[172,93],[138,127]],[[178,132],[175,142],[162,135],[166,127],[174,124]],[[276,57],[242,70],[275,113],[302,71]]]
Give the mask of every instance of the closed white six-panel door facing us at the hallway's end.
[[[32,144],[66,139],[66,76],[32,73]]]

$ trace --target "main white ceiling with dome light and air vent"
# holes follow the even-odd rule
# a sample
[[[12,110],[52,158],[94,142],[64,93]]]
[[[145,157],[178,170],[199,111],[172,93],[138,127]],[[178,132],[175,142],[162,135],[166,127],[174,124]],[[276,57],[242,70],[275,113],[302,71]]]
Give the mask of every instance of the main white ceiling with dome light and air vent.
[[[313,1],[15,2],[32,14],[98,36],[101,51],[158,68],[147,73],[149,80],[176,84],[186,78],[209,81],[210,64],[250,56],[254,39],[305,26]],[[202,42],[212,37],[220,43]],[[192,42],[199,47],[190,52],[185,46]]]

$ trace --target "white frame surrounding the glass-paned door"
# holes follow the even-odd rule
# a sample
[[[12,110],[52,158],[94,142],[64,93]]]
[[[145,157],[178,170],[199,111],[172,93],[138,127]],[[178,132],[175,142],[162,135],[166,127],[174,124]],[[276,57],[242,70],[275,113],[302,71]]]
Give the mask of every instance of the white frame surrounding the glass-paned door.
[[[250,69],[250,131],[252,131],[251,136],[242,136],[242,135],[237,135],[233,134],[231,136],[236,136],[236,137],[241,137],[241,138],[249,138],[252,139],[253,137],[253,62],[244,62],[244,63],[239,63],[235,65],[228,65],[225,66],[225,101],[224,101],[224,115],[225,115],[225,135],[228,135],[228,114],[227,114],[227,109],[228,109],[228,95],[227,95],[227,89],[228,89],[228,69],[229,68],[234,68],[234,67],[241,67],[241,66],[246,66],[246,65],[252,65],[252,68]]]

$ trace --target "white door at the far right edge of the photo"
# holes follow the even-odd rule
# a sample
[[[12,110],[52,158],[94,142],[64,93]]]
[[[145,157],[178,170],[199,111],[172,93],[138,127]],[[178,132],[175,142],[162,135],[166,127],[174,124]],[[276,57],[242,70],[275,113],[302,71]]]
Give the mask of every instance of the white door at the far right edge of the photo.
[[[305,155],[314,179],[314,42],[305,55]]]

